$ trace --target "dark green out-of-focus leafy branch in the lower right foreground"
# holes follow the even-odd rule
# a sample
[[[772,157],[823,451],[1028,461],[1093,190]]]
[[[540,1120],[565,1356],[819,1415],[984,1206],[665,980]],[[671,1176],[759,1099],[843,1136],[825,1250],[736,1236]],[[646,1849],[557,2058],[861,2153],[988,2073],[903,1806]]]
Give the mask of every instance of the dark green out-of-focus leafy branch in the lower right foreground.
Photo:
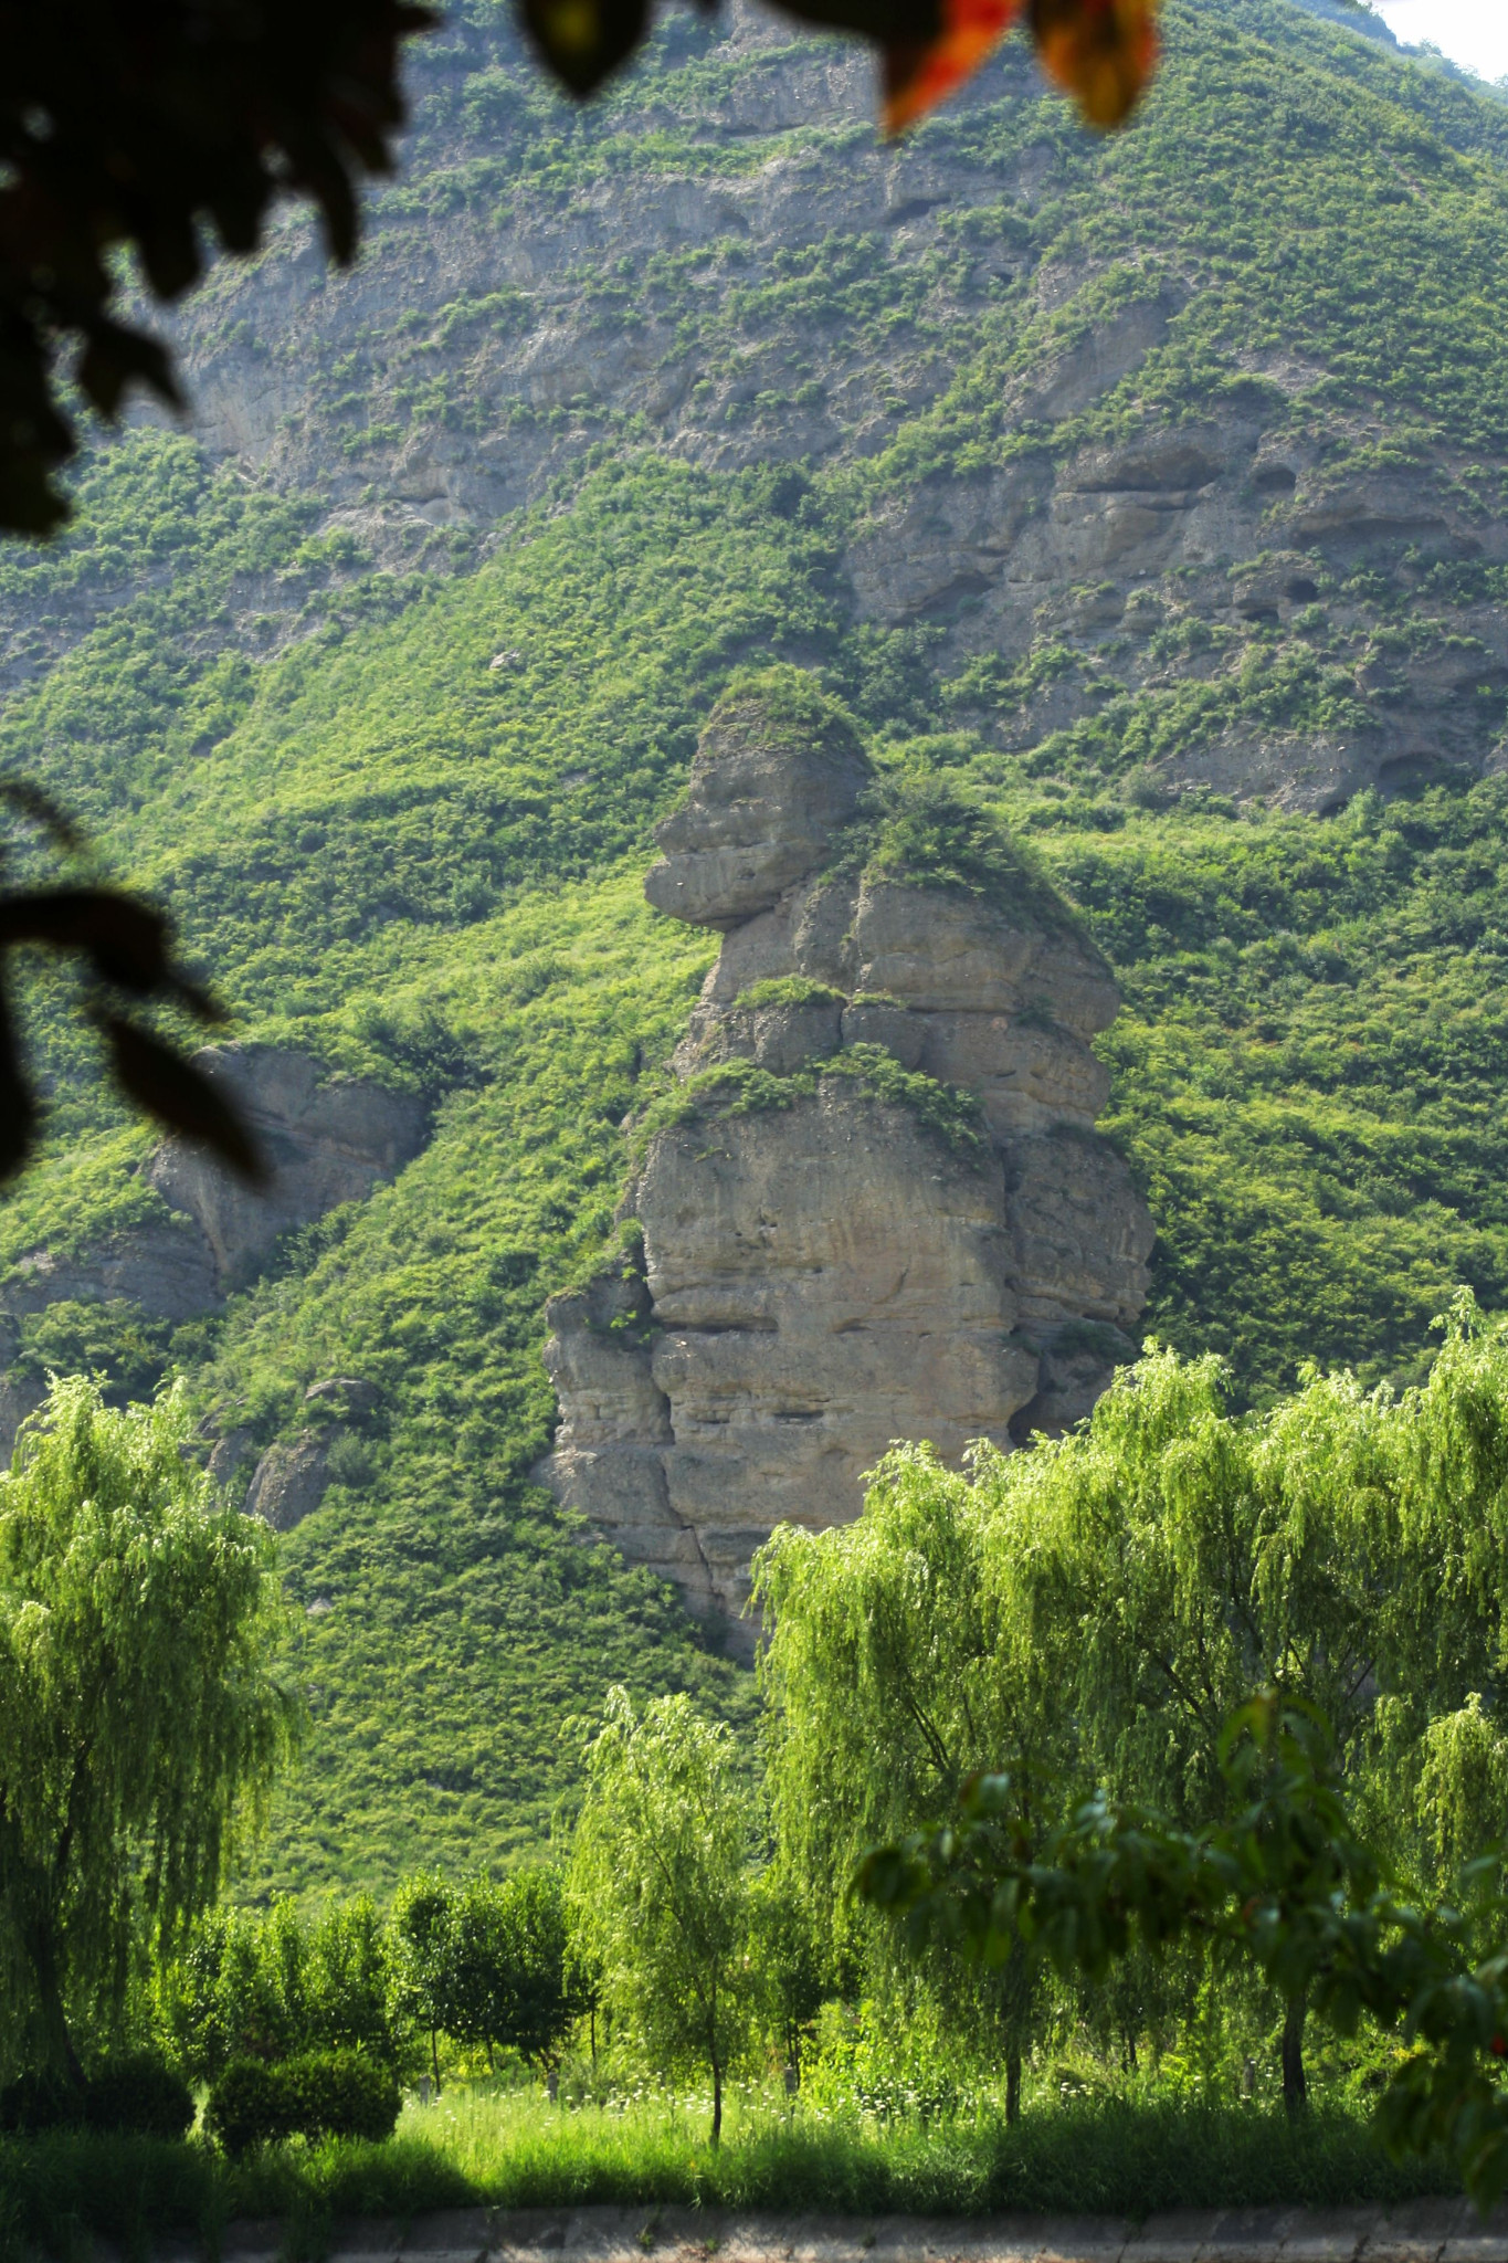
[[[1445,2148],[1490,2209],[1508,2188],[1501,1885],[1465,1914],[1461,1896],[1422,1908],[1399,1894],[1357,1838],[1311,1706],[1253,1700],[1225,1722],[1219,1758],[1230,1819],[1187,1831],[1099,1795],[1035,1856],[1017,1788],[977,1776],[954,1819],[875,1849],[861,1892],[913,1948],[941,1937],[986,1967],[1026,1951],[1103,1982],[1133,1948],[1160,1957],[1182,1937],[1250,1957],[1341,2034],[1366,2016],[1402,2037],[1377,2107],[1384,2139],[1399,2157]]]

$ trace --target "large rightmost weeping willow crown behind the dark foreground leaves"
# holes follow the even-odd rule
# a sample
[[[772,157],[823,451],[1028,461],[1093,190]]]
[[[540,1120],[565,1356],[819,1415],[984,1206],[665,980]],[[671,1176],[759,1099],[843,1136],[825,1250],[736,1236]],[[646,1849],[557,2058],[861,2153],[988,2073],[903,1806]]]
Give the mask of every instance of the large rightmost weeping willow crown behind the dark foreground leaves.
[[[1497,1695],[1508,1593],[1508,1337],[1470,1299],[1399,1399],[1309,1374],[1268,1414],[1232,1417],[1216,1360],[1153,1351],[1085,1432],[986,1455],[977,1503],[1002,1609],[1063,1661],[1081,1770],[1216,1822],[1221,1722],[1271,1688],[1332,1722],[1390,1858],[1440,1883],[1458,1833],[1431,1847],[1424,1772],[1433,1813],[1465,1813],[1449,1783],[1481,1740],[1449,1722]],[[1293,1998],[1289,2105],[1302,2023]]]

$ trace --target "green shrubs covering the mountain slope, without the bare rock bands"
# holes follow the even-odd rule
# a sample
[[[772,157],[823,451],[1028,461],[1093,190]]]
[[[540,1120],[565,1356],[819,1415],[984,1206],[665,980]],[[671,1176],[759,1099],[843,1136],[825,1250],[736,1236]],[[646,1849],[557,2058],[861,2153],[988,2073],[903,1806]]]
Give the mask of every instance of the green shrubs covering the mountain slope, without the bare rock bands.
[[[1011,668],[934,620],[857,622],[841,570],[875,511],[950,468],[1054,459],[1149,412],[1198,421],[1239,387],[1266,387],[1273,410],[1264,355],[1307,371],[1273,416],[1318,448],[1320,487],[1418,459],[1483,514],[1501,505],[1501,109],[1277,0],[1169,14],[1135,136],[1081,140],[1011,52],[986,100],[909,145],[909,163],[963,154],[1004,183],[1040,145],[1047,201],[947,210],[913,256],[843,238],[778,247],[766,272],[719,238],[642,278],[586,256],[565,274],[604,337],[644,312],[694,337],[739,439],[798,412],[812,339],[841,335],[893,403],[864,459],[708,468],[658,455],[644,421],[520,405],[581,441],[547,500],[486,534],[436,527],[396,568],[326,527],[317,482],[258,484],[136,428],[88,459],[63,543],[0,557],[5,763],[172,903],[237,1034],[434,1109],[396,1186],[292,1236],[224,1317],[174,1333],[129,1306],[54,1308],[16,1346],[29,1374],[97,1362],[131,1392],[183,1367],[199,1408],[258,1444],[298,1421],[319,1376],[382,1389],[373,1435],[283,1543],[314,1736],[253,1894],[387,1890],[430,1860],[536,1847],[577,1781],[563,1722],[613,1681],[746,1718],[746,1679],[529,1469],[552,1419],[543,1299],[613,1240],[619,1122],[660,1089],[710,962],[708,937],[640,901],[649,826],[751,661],[816,670],[902,788],[866,853],[920,844],[963,885],[1029,887],[1040,869],[1117,966],[1108,1127],[1158,1217],[1151,1331],[1221,1351],[1268,1403],[1305,1360],[1422,1371],[1458,1283],[1503,1301],[1501,778],[1327,819],[1158,785],[1171,745],[1228,726],[1366,733],[1368,659],[1427,659],[1458,634],[1451,609],[1501,600],[1503,568],[1384,582],[1316,566],[1314,606],[1286,627],[1169,586],[1144,636],[1065,616]],[[581,118],[484,52],[486,20],[463,18],[461,63],[421,104],[373,258],[382,231],[396,256],[409,224],[497,220],[504,188],[570,210],[631,172],[753,163],[696,115],[771,66],[730,61],[690,18]],[[821,181],[855,131],[798,127],[780,149]],[[1017,251],[1072,276],[1051,310]],[[1022,423],[1033,371],[1164,292],[1167,337],[1133,378],[1056,425]],[[434,321],[421,308],[382,346],[373,333],[353,367],[319,371],[319,419],[357,455],[378,423],[475,439],[484,410],[445,339],[502,335],[520,306],[500,290]],[[719,387],[755,339],[787,355],[789,382],[733,401]],[[292,362],[298,342],[267,353]],[[1210,586],[1228,593],[1232,563],[1212,561]],[[1083,695],[1067,722],[1063,686]],[[1485,745],[1501,695],[1479,708]],[[981,880],[965,837],[927,835],[916,788],[931,776],[1002,812],[1031,855]],[[52,1136],[0,1215],[7,1263],[95,1245],[156,1199],[133,1170],[147,1134],[99,1086],[66,996],[43,973],[27,991]]]

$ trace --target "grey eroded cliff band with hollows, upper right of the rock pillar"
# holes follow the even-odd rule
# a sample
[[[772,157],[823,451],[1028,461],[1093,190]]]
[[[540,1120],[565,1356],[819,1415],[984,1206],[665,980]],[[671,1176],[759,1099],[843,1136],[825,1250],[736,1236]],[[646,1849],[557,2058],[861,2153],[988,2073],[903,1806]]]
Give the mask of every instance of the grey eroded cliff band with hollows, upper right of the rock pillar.
[[[1318,437],[1275,432],[1259,387],[1232,387],[1198,421],[1149,419],[1119,446],[895,491],[846,563],[859,616],[927,620],[959,683],[981,659],[990,681],[1002,663],[1022,670],[1020,704],[986,695],[974,711],[1002,745],[1038,747],[1090,713],[1097,652],[1149,695],[1230,668],[1219,729],[1171,735],[1153,783],[1332,812],[1363,788],[1465,778],[1497,758],[1508,622],[1483,568],[1506,548],[1508,527],[1474,509],[1461,466],[1345,464]],[[1449,613],[1418,609],[1402,647],[1368,591],[1422,582],[1461,597]],[[1325,702],[1239,697],[1241,665],[1286,649],[1300,681],[1316,640],[1332,665]],[[1033,672],[1049,649],[1081,659]]]

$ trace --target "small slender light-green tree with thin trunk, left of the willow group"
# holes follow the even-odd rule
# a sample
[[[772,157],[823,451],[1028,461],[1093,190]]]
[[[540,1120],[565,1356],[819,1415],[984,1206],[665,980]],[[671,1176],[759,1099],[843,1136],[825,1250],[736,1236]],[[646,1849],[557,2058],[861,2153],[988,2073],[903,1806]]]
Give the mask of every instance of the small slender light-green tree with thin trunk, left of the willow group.
[[[753,2010],[751,1853],[753,1797],[728,1727],[681,1695],[635,1715],[610,1690],[586,1752],[572,1919],[651,2057],[708,2068],[714,2145]]]

